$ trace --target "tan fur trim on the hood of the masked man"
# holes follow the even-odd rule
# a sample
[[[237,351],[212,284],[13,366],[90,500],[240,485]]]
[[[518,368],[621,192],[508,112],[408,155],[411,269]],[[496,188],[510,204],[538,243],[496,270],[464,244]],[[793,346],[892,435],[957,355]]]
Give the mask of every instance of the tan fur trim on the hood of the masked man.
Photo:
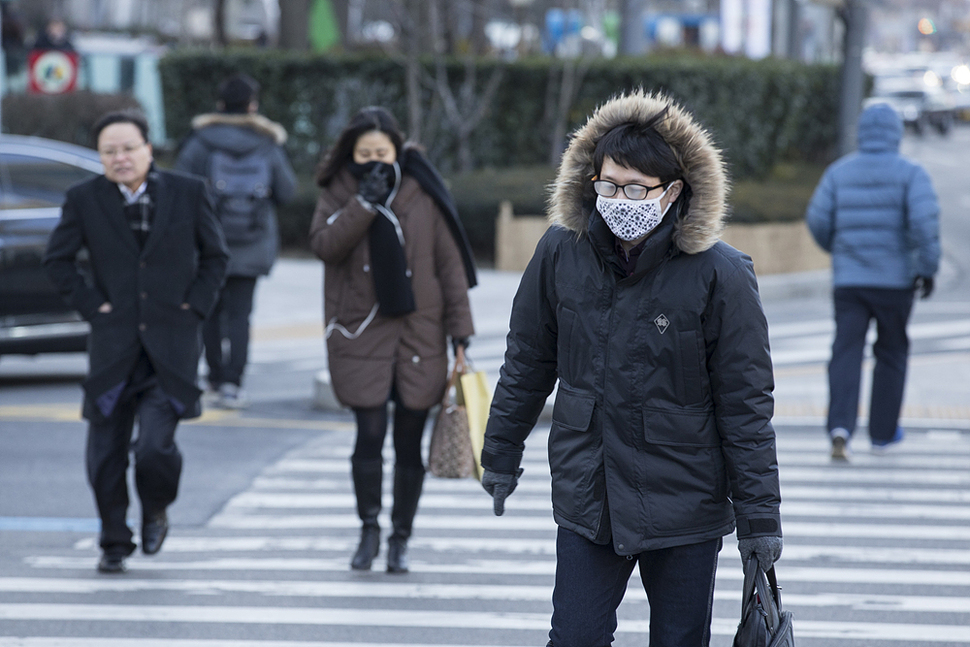
[[[682,252],[696,254],[717,242],[724,227],[728,191],[721,151],[687,111],[662,94],[643,90],[610,99],[573,134],[551,186],[550,224],[585,235],[589,212],[584,199],[586,204],[592,200],[593,152],[597,142],[614,127],[645,123],[664,108],[669,108],[667,116],[656,125],[656,130],[679,160],[683,180],[693,192],[687,213],[680,209],[670,212],[677,214],[674,245]]]

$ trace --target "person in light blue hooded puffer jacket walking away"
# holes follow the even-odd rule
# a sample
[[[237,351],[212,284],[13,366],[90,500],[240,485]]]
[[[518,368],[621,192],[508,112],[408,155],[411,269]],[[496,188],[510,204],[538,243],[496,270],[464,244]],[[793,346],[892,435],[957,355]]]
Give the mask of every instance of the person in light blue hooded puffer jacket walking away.
[[[859,117],[859,149],[822,175],[805,220],[832,255],[835,340],[829,361],[831,457],[849,459],[858,420],[862,357],[876,322],[869,400],[872,451],[903,439],[899,426],[914,292],[933,292],[940,265],[940,206],[926,170],[899,154],[903,124],[885,103]]]

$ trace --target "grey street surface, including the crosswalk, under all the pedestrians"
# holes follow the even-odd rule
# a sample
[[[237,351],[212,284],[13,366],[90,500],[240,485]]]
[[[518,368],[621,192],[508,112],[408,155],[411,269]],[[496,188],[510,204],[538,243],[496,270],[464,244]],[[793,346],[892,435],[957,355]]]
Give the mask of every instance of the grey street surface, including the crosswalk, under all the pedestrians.
[[[968,144],[970,128],[905,142],[941,193],[946,259],[938,293],[914,313],[908,438],[898,451],[873,456],[860,434],[849,465],[829,462],[827,276],[761,278],[786,531],[778,576],[799,645],[970,644]],[[83,355],[0,361],[0,647],[545,644],[555,526],[543,427],[504,517],[491,515],[477,483],[430,480],[412,573],[347,568],[358,524],[351,420],[311,408],[313,376],[326,365],[320,278],[315,262],[287,260],[261,283],[253,405],[180,427],[185,472],[170,539],[155,557],[134,556],[123,577],[94,570]],[[491,376],[516,283],[485,272],[472,293],[472,356]],[[715,592],[718,647],[730,645],[740,582],[729,537]],[[621,647],[646,642],[638,586],[635,576],[620,608]]]

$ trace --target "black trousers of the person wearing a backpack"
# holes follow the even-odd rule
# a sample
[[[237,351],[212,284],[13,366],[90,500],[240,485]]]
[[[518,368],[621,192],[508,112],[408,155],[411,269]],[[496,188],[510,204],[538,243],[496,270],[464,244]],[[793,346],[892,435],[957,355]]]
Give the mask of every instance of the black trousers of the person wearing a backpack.
[[[219,300],[209,318],[202,324],[205,361],[209,366],[209,384],[242,384],[243,371],[249,359],[249,316],[253,312],[256,277],[228,276],[219,292]],[[229,340],[228,357],[222,352],[222,340]]]

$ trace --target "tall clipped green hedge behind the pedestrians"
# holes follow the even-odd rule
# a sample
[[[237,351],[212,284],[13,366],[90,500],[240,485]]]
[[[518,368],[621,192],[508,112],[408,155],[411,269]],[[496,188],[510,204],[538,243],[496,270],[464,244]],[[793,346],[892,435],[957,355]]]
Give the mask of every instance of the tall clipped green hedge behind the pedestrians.
[[[475,167],[546,164],[554,124],[545,105],[557,94],[560,61],[514,63],[482,60],[477,82],[484,86],[497,67],[503,80],[486,118],[472,135]],[[433,73],[427,62],[428,75]],[[260,81],[261,111],[290,132],[288,151],[310,174],[360,107],[380,104],[407,124],[404,68],[374,55],[313,56],[282,51],[179,51],[161,62],[166,127],[176,139],[192,117],[212,110],[215,88],[234,71]],[[449,83],[458,94],[463,64],[451,61]],[[836,143],[838,69],[768,59],[662,55],[595,60],[571,106],[567,132],[610,96],[632,88],[662,90],[692,110],[723,147],[735,179],[766,176],[782,159],[828,159]],[[457,168],[457,143],[441,101],[424,90],[422,144],[443,173]]]

